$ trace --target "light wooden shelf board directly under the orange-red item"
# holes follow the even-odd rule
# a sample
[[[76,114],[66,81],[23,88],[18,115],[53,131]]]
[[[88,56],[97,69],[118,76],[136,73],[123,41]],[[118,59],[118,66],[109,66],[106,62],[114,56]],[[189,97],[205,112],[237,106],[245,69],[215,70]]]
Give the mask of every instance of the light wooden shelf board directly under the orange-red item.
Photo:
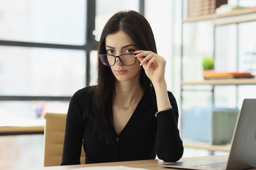
[[[209,79],[202,81],[182,81],[182,85],[256,85],[255,78]]]

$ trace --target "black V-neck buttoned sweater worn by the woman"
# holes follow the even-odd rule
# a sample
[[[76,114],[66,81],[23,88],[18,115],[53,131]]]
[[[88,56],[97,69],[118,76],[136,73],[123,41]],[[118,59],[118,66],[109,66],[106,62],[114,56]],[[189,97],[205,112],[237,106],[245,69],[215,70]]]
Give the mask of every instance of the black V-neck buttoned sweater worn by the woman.
[[[157,107],[147,89],[123,131],[115,134],[113,144],[106,144],[104,139],[99,140],[92,134],[89,88],[77,91],[70,100],[61,165],[80,164],[82,141],[85,163],[155,159],[156,155],[164,161],[175,162],[182,157],[177,103],[171,92],[168,96],[173,108],[155,117]]]

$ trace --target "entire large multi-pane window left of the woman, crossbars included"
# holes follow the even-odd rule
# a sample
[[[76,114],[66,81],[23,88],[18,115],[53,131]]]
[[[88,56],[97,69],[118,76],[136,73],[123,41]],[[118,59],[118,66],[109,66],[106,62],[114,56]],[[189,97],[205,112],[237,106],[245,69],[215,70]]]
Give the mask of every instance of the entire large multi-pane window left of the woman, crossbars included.
[[[90,81],[87,14],[86,0],[0,0],[0,120],[67,113]]]

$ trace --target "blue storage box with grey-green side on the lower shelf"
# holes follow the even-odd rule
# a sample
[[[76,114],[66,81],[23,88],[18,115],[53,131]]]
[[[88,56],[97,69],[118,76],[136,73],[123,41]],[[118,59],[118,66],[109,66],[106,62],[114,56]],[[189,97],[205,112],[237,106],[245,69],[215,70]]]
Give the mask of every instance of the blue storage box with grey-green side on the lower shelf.
[[[238,108],[193,107],[182,113],[182,139],[209,144],[229,144]]]

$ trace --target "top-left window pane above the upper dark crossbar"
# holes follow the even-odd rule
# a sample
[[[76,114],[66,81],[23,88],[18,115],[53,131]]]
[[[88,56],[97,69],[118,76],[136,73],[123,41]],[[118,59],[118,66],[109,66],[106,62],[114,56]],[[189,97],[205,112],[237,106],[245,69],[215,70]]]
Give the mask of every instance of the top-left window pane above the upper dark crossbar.
[[[85,0],[0,0],[0,39],[85,44]]]

